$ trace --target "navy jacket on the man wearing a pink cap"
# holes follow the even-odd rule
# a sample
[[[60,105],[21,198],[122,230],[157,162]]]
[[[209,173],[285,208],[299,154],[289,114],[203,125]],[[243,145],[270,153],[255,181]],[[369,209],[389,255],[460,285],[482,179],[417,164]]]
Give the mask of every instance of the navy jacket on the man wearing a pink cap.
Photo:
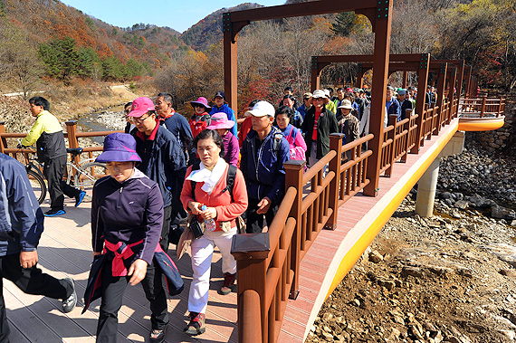
[[[174,135],[163,126],[144,138],[138,129],[131,135],[136,139],[136,152],[141,157],[139,168],[148,178],[158,183],[165,207],[172,204],[172,196],[179,196],[186,174],[185,154]]]

